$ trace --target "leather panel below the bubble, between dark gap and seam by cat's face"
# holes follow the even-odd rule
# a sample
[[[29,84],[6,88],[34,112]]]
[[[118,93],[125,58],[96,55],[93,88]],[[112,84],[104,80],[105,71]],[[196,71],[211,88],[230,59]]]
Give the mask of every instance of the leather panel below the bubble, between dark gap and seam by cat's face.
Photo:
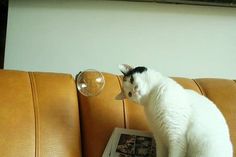
[[[124,106],[115,100],[120,91],[118,78],[104,73],[105,86],[98,96],[79,94],[83,157],[101,157],[115,127],[125,127]]]

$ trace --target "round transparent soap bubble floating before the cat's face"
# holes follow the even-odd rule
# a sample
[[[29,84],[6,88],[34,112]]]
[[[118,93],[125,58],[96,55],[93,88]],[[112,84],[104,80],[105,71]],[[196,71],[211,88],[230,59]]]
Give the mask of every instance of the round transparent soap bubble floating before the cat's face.
[[[88,69],[77,76],[77,88],[84,96],[96,96],[101,93],[105,79],[101,72]]]

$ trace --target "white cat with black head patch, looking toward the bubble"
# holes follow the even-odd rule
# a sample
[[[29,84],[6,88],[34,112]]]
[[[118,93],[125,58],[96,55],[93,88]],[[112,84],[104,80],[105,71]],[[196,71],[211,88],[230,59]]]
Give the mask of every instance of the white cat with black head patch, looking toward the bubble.
[[[157,143],[157,157],[233,157],[226,121],[206,97],[145,67],[119,66],[118,99],[144,106]]]

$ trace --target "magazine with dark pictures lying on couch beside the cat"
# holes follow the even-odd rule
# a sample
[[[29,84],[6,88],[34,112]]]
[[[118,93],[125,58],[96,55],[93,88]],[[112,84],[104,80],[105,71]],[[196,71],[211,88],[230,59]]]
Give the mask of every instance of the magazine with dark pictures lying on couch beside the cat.
[[[156,157],[156,144],[150,132],[115,128],[102,157]]]

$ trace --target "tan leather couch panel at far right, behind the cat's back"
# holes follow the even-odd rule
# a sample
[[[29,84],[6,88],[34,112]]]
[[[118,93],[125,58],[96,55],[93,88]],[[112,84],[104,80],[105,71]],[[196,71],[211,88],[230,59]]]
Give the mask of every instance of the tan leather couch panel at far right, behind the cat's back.
[[[226,79],[196,79],[206,97],[212,100],[223,113],[229,125],[236,156],[236,83]]]

